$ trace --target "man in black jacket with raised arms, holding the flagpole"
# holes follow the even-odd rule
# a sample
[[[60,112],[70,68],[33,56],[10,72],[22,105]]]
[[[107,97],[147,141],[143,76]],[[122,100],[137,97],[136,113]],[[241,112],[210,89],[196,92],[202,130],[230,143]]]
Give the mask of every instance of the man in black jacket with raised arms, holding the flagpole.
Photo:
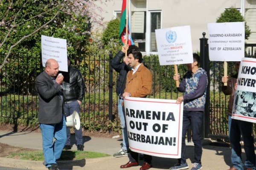
[[[128,71],[131,70],[131,67],[129,66],[128,57],[125,56],[125,50],[128,49],[128,45],[124,45],[122,47],[122,50],[119,51],[116,56],[111,61],[111,66],[115,71],[119,73],[119,77],[117,79],[116,83],[116,94],[119,96],[119,102],[118,102],[118,115],[121,122],[122,127],[122,147],[119,150],[119,152],[115,153],[114,157],[121,157],[121,156],[128,156],[128,136],[127,136],[127,129],[125,125],[125,111],[124,107],[122,106],[123,98],[122,94],[125,90],[125,82],[126,82],[126,76]],[[123,59],[123,62],[121,60]]]

